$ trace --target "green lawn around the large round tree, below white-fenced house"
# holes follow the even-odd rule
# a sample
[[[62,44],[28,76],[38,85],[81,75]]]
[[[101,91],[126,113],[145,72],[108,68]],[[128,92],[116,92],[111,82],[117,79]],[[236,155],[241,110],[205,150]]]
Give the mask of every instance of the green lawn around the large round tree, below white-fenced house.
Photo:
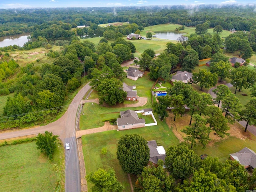
[[[154,114],[157,117],[157,114]],[[117,178],[125,187],[124,192],[130,192],[128,176],[124,173],[116,158],[117,144],[120,136],[124,134],[140,134],[146,140],[156,140],[158,145],[167,149],[169,146],[177,145],[178,139],[168,128],[165,122],[158,121],[157,126],[148,126],[123,131],[107,131],[96,134],[82,136],[84,162],[86,173],[96,171],[98,168],[108,169],[113,167],[116,171]],[[106,155],[100,154],[100,150],[106,147]],[[133,180],[134,184],[134,180]],[[91,192],[92,185],[88,182],[88,191]]]

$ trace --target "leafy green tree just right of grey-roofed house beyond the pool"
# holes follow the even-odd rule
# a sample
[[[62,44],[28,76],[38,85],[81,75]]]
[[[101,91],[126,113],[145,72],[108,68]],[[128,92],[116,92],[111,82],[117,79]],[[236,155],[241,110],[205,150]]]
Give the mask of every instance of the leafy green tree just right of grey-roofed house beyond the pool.
[[[193,79],[196,80],[196,82],[200,82],[200,90],[202,90],[203,87],[210,88],[210,86],[215,86],[218,81],[218,75],[206,69],[200,69],[199,73],[193,74]]]

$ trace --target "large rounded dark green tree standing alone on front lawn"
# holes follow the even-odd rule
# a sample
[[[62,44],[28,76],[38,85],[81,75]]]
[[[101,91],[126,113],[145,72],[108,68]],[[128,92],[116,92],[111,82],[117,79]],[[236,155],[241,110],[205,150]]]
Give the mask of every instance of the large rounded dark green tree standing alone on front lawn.
[[[149,160],[147,141],[138,134],[125,134],[118,141],[116,155],[124,172],[140,174]]]

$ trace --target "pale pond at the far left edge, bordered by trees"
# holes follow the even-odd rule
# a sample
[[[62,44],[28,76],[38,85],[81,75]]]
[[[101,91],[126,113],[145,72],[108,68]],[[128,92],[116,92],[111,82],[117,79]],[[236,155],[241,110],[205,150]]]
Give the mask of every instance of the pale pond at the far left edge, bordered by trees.
[[[12,35],[7,37],[0,37],[0,47],[9,45],[18,45],[23,47],[24,43],[28,42],[29,34]]]

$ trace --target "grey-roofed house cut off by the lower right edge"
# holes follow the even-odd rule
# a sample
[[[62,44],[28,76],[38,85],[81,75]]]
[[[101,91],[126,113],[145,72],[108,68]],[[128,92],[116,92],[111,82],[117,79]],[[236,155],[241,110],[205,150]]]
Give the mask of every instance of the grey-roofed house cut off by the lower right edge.
[[[230,159],[237,160],[244,168],[256,168],[256,153],[247,147],[230,154]]]

